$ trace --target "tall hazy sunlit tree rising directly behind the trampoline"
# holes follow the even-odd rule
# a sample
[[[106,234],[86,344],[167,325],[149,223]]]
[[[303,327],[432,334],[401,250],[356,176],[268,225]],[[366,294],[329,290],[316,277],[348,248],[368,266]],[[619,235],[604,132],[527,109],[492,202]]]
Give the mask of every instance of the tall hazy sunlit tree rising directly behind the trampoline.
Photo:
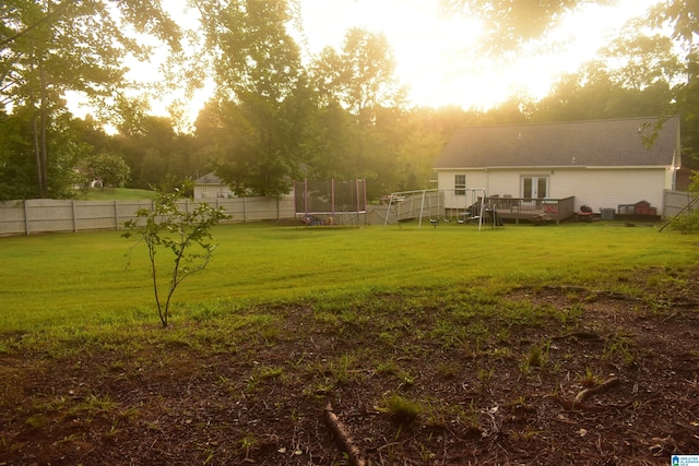
[[[316,57],[310,65],[320,109],[316,144],[323,150],[310,162],[311,177],[365,178],[369,195],[398,188],[405,91],[394,70],[386,36],[362,28],[346,33],[341,50],[327,47]]]

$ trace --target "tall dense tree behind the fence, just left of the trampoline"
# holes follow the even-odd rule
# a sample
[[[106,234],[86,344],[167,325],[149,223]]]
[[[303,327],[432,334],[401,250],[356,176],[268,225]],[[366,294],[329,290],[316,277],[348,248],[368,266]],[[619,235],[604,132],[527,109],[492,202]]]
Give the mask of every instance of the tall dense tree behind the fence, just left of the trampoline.
[[[208,107],[208,151],[216,171],[242,194],[281,195],[304,158],[306,92],[287,0],[193,2],[202,17],[217,93]],[[200,130],[198,124],[198,131]],[[203,128],[201,128],[204,131]]]

